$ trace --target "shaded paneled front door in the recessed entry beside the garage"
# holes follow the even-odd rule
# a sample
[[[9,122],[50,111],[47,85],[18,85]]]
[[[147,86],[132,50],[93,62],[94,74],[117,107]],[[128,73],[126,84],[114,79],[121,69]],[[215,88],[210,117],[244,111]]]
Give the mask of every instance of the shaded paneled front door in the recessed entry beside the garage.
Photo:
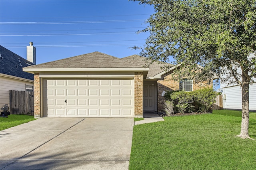
[[[156,109],[156,83],[143,83],[143,111],[155,111]]]

